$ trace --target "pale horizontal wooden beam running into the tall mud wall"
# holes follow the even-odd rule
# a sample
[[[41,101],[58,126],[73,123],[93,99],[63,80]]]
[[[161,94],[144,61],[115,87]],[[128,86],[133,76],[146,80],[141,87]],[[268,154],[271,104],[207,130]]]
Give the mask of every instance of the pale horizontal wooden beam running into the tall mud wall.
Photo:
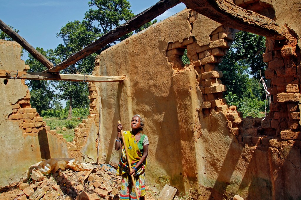
[[[123,81],[125,76],[93,76],[83,74],[50,74],[42,72],[25,72],[25,71],[6,71],[0,70],[0,78],[15,78],[29,80],[68,80],[84,82],[119,82]]]

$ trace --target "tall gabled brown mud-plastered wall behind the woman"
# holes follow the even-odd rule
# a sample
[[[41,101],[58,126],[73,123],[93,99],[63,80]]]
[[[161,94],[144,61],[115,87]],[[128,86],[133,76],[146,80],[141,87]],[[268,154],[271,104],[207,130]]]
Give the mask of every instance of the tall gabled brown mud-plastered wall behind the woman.
[[[198,199],[230,199],[236,194],[247,199],[298,199],[299,47],[295,42],[292,59],[277,53],[282,47],[276,50],[267,42],[272,57],[266,62],[287,59],[296,69],[290,78],[296,85],[278,92],[294,96],[277,106],[290,125],[280,126],[280,117],[275,126],[274,112],[264,121],[243,119],[222,98],[226,88],[217,68],[236,31],[184,10],[102,52],[94,74],[127,79],[90,85],[98,93],[94,106],[99,108],[101,100],[101,162],[119,161],[120,151],[114,150],[117,121],[130,130],[132,116],[141,114],[150,141],[146,169],[150,185],[169,181],[182,195],[195,190]],[[181,61],[185,49],[187,65]],[[292,120],[288,102],[294,105],[290,112],[297,113]]]

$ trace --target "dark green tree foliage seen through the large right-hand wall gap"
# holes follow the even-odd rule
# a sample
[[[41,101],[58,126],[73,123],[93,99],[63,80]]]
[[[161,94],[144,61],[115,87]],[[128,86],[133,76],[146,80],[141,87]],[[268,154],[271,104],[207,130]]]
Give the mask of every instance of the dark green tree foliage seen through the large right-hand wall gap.
[[[235,40],[231,45],[223,61],[219,64],[219,70],[223,72],[222,82],[228,92],[233,92],[239,98],[261,99],[261,87],[259,84],[260,71],[266,69],[262,54],[265,50],[265,37],[249,32],[236,33]]]

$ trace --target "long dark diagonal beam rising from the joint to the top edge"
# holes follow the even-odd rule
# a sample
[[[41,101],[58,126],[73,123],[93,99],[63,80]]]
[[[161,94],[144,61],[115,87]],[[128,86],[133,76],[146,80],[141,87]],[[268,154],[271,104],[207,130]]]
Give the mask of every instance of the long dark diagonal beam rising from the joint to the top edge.
[[[101,49],[102,47],[110,44],[113,41],[116,41],[123,35],[138,29],[140,26],[144,25],[147,22],[150,22],[160,14],[164,13],[169,8],[174,7],[175,5],[179,4],[179,0],[161,0],[152,7],[148,8],[147,10],[141,12],[140,14],[136,15],[126,23],[116,27],[112,31],[107,32],[95,42],[88,44],[82,50],[76,52],[63,62],[59,63],[55,67],[48,69],[43,72],[57,72],[67,68],[70,65],[75,64],[80,59],[83,59],[92,53],[96,52],[97,50]]]

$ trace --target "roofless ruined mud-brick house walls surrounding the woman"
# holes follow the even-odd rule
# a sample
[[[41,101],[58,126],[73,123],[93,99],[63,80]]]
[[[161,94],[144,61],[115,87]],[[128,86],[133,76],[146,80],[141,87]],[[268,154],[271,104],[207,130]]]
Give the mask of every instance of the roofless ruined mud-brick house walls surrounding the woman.
[[[120,152],[113,148],[117,121],[129,130],[132,116],[141,114],[150,140],[148,182],[169,180],[179,193],[195,190],[197,199],[230,199],[236,194],[245,199],[301,197],[300,2],[182,2],[191,9],[97,57],[93,75],[126,78],[88,83],[90,115],[74,130],[73,142],[50,130],[31,108],[24,80],[1,78],[0,156],[5,162],[0,163],[0,186],[19,181],[41,158],[96,162],[99,119],[99,162],[117,164]],[[249,18],[239,21],[231,12],[219,16],[216,13],[223,6],[271,21],[259,30],[256,23],[263,18],[253,23]],[[263,121],[243,118],[223,98],[226,88],[217,64],[230,48],[237,24],[267,36],[263,59],[268,62],[265,76],[271,80],[272,103]],[[280,34],[270,26],[277,26]],[[16,42],[0,41],[0,45],[2,70],[28,70]],[[181,60],[185,49],[190,65]]]

